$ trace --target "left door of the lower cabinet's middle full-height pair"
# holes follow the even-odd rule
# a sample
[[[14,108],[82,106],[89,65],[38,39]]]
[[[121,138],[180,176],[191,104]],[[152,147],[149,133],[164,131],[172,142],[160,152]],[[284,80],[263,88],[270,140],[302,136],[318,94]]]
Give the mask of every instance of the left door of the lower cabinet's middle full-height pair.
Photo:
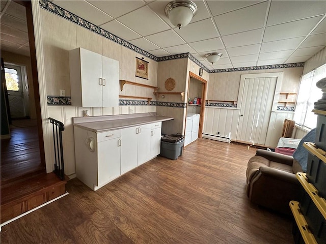
[[[121,174],[137,167],[138,128],[121,129]]]

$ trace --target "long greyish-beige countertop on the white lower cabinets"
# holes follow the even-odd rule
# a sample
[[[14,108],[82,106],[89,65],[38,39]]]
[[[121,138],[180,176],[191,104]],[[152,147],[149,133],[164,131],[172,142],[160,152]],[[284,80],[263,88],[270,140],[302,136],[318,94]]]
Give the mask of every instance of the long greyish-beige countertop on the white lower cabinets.
[[[123,118],[123,119],[114,119],[114,120],[93,121],[93,122],[86,122],[86,123],[76,123],[74,124],[74,126],[99,133],[99,132],[128,128],[132,126],[141,126],[149,123],[167,121],[172,119],[174,118],[166,117],[166,116],[145,116],[145,117],[136,117],[136,118]]]

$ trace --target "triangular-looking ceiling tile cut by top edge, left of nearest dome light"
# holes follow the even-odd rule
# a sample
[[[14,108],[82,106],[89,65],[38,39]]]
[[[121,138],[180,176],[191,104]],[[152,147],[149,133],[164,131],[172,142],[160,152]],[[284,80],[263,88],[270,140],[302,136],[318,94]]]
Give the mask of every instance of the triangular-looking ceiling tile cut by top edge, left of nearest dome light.
[[[76,2],[76,1],[72,1]],[[114,18],[118,18],[145,5],[142,1],[88,1]]]

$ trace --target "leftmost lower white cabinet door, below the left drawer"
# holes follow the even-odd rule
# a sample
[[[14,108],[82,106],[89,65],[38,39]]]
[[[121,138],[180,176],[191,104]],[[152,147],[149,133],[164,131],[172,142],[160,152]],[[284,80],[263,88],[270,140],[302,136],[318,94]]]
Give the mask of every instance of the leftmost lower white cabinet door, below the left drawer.
[[[98,142],[98,187],[120,176],[120,145],[120,137]]]

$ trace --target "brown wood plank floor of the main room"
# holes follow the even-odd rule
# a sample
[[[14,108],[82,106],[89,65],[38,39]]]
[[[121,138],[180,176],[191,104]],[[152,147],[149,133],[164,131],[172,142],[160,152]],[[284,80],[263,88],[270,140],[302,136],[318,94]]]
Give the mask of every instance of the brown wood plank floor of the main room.
[[[96,192],[72,179],[68,196],[3,226],[1,243],[293,243],[292,220],[245,194],[255,150],[202,138]]]

